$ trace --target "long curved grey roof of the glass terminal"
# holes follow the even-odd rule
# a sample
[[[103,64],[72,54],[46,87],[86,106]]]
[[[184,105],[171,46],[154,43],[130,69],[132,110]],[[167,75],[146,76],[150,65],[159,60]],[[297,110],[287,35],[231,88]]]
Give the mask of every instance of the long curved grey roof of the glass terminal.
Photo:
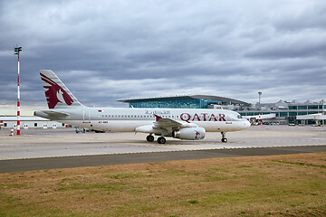
[[[118,99],[117,101],[145,102],[145,101],[168,101],[168,100],[182,100],[182,99],[211,99],[211,100],[222,101],[222,102],[231,102],[232,104],[250,105],[250,103],[238,99],[231,99],[231,98],[210,96],[210,95],[184,95],[184,96],[170,96],[170,97],[167,96],[167,97],[156,97],[156,98]]]

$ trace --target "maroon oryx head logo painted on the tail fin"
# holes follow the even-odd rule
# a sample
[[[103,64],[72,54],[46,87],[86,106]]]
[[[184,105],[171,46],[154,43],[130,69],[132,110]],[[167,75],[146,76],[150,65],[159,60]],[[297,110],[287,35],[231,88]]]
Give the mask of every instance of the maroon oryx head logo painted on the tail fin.
[[[50,78],[43,75],[43,73],[41,73],[41,79],[45,83],[49,84],[48,86],[43,84],[49,109],[54,109],[58,103],[65,103],[68,106],[72,105],[72,98],[65,90],[62,89],[62,87],[60,87],[56,82],[54,82]]]

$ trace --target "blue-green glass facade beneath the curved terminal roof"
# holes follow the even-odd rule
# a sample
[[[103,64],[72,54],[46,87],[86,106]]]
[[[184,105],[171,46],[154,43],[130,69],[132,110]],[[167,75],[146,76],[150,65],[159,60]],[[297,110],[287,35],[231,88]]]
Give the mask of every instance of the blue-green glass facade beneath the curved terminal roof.
[[[129,102],[131,108],[207,109],[210,104],[221,104],[212,99],[170,99]]]

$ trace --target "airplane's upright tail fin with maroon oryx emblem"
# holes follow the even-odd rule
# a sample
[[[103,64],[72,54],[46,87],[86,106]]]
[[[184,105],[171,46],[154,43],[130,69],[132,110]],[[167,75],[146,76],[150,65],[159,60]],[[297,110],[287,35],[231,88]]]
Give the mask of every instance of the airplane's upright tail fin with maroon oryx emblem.
[[[41,70],[40,75],[49,109],[83,107],[53,71]]]

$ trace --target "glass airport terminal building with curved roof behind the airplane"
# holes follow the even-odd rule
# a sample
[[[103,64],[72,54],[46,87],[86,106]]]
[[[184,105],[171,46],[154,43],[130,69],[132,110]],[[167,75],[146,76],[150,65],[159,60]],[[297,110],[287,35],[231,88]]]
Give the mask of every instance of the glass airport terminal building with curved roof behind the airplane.
[[[225,97],[185,95],[119,99],[118,101],[129,103],[129,108],[231,109],[239,112],[244,117],[260,117],[262,122],[295,125],[318,123],[326,125],[326,101],[323,99],[319,102],[307,100],[302,103],[296,100],[291,102],[279,100],[275,103],[256,103],[254,105],[242,100]]]

